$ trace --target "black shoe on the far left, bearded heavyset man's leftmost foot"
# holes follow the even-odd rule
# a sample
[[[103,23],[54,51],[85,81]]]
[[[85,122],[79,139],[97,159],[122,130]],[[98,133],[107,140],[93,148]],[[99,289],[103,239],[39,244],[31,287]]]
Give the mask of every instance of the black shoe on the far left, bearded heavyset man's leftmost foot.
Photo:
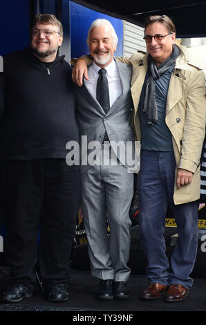
[[[3,302],[19,302],[24,298],[32,297],[32,290],[24,284],[11,284],[8,290],[1,294]]]

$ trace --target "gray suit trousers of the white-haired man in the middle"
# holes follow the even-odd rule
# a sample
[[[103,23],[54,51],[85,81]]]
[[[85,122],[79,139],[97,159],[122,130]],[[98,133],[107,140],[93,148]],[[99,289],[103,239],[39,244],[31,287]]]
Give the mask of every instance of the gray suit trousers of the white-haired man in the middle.
[[[119,161],[118,164],[111,165],[109,158],[108,165],[102,161],[102,165],[88,167],[81,177],[82,212],[91,273],[98,279],[127,281],[131,272],[127,262],[130,250],[129,208],[133,197],[133,173],[128,173],[127,168],[120,165]]]

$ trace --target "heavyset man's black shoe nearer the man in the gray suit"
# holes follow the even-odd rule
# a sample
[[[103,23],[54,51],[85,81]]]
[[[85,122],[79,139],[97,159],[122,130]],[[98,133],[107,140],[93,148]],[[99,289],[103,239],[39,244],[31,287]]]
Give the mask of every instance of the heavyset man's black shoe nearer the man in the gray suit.
[[[66,284],[50,284],[46,286],[46,299],[51,302],[62,302],[68,300],[68,289]]]

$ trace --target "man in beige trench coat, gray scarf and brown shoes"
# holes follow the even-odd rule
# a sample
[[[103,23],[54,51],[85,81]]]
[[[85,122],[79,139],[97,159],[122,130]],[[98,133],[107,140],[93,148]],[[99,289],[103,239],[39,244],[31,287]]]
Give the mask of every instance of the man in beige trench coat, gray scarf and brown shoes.
[[[193,280],[198,242],[200,155],[205,136],[205,76],[187,62],[176,45],[176,28],[167,16],[145,21],[147,54],[122,58],[133,66],[131,93],[134,127],[141,140],[138,174],[140,236],[147,257],[150,286],[142,299],[180,301]],[[80,61],[82,62],[82,60]],[[83,68],[82,68],[83,71]],[[87,74],[84,71],[84,77]],[[81,68],[73,70],[81,84]],[[171,208],[178,241],[165,254],[165,214]]]

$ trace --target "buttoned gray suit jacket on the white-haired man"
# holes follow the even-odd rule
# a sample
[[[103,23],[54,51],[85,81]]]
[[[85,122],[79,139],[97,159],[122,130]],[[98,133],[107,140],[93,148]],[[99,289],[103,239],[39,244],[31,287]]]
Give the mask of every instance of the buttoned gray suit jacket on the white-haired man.
[[[107,113],[102,106],[88,92],[85,84],[82,87],[75,85],[77,100],[77,121],[79,123],[80,136],[87,136],[87,143],[97,141],[101,148],[104,133],[107,132],[111,147],[120,163],[127,168],[133,165],[135,159],[134,133],[131,127],[133,115],[133,100],[131,98],[132,68],[122,62],[117,62],[123,93],[118,97]],[[85,152],[86,137],[82,142],[82,150]],[[118,143],[118,146],[117,146]],[[83,148],[84,147],[84,148]],[[91,149],[87,150],[87,156]],[[89,168],[82,162],[82,172]],[[133,171],[136,171],[133,169]]]

